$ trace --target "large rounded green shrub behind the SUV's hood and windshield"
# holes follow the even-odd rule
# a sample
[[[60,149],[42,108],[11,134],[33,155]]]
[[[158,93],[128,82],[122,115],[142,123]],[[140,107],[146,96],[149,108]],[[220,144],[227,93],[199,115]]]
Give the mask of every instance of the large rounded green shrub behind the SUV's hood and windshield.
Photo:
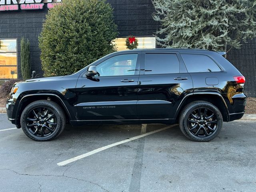
[[[77,72],[114,52],[117,35],[105,0],[63,0],[48,12],[39,38],[45,76]]]

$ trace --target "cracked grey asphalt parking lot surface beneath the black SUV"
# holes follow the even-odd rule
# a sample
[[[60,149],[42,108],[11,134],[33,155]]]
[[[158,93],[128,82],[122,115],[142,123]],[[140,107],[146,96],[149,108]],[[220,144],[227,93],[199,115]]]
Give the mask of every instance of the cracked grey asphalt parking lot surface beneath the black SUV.
[[[253,121],[224,123],[211,142],[192,142],[172,126],[96,153],[167,126],[67,126],[50,142],[5,130],[14,127],[0,114],[0,192],[256,191]],[[88,156],[57,165],[82,154]]]

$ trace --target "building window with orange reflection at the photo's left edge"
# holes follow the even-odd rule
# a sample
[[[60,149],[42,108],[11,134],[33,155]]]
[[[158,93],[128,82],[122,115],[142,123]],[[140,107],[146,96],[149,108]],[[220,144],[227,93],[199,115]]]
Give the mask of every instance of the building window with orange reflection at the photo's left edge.
[[[0,79],[17,78],[17,40],[1,39]]]

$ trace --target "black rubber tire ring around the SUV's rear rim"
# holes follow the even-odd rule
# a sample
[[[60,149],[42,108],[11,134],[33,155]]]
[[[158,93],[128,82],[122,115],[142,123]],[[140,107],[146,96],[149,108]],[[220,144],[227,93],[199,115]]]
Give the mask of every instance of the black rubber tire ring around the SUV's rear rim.
[[[198,108],[207,108],[209,110],[212,110],[212,112],[214,112],[214,115],[216,116],[217,120],[218,120],[218,124],[217,124],[217,127],[214,131],[214,133],[210,134],[209,136],[206,136],[206,137],[198,137],[198,136],[195,136],[194,134],[192,134],[188,128],[188,124],[187,124],[187,120],[188,120],[188,117],[190,116],[190,114],[198,109]],[[220,110],[218,110],[218,108],[216,108],[215,106],[212,106],[212,105],[209,105],[207,103],[202,103],[202,104],[195,104],[193,106],[190,106],[186,112],[185,112],[185,116],[182,120],[182,123],[183,123],[183,126],[184,126],[184,130],[186,131],[186,133],[188,134],[188,136],[190,138],[192,138],[192,140],[196,140],[196,141],[210,141],[212,139],[214,139],[220,132],[221,128],[222,128],[222,122],[223,122],[223,119],[222,119],[222,114],[220,113]]]

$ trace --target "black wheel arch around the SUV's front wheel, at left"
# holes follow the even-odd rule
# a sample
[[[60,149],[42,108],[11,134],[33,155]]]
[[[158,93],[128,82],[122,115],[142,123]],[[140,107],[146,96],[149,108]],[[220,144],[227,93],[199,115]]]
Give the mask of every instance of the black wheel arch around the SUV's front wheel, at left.
[[[24,110],[24,108],[36,101],[36,100],[48,100],[50,99],[53,102],[56,102],[64,111],[65,115],[66,115],[66,120],[67,122],[70,122],[70,120],[72,120],[72,117],[70,115],[70,112],[68,111],[68,108],[66,107],[66,105],[64,104],[64,102],[62,101],[62,99],[56,95],[56,94],[28,94],[25,95],[21,98],[17,111],[16,111],[16,124],[20,126],[20,116],[21,116],[21,111]]]

